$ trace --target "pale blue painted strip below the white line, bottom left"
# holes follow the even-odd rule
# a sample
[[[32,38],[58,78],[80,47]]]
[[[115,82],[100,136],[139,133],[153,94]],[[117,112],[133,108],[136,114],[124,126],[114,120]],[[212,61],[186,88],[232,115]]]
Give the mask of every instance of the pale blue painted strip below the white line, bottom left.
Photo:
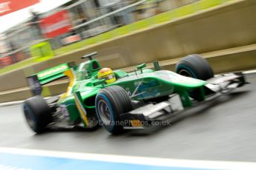
[[[67,155],[68,156],[68,155]],[[6,154],[0,153],[0,169],[1,167],[12,167],[13,169],[35,169],[35,170],[65,170],[65,169],[122,169],[122,170],[134,170],[134,169],[154,169],[154,170],[202,170],[194,168],[182,168],[182,167],[164,167],[164,166],[148,166],[137,165],[132,163],[111,163],[96,160],[77,160],[60,157],[45,157],[45,156],[30,156],[23,154]]]

